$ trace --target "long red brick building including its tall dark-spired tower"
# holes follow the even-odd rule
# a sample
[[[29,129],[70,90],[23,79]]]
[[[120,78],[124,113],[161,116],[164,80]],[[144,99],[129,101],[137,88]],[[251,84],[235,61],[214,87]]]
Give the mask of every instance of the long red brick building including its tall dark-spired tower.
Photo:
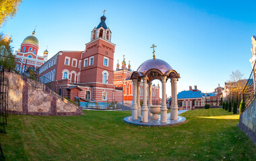
[[[105,21],[104,15],[100,17],[86,50],[58,52],[40,66],[39,74],[69,89],[81,101],[123,102],[123,91],[113,85],[115,44]]]

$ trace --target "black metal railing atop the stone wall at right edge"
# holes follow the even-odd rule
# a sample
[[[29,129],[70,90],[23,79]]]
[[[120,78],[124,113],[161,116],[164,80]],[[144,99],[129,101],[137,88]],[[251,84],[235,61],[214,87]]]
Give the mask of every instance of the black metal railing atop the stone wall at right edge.
[[[253,101],[253,99],[255,98],[255,64],[253,66],[253,70],[251,70],[251,74],[249,76],[249,79],[247,80],[247,84],[243,89],[243,103],[245,103],[245,108],[247,108],[250,105],[251,101]]]

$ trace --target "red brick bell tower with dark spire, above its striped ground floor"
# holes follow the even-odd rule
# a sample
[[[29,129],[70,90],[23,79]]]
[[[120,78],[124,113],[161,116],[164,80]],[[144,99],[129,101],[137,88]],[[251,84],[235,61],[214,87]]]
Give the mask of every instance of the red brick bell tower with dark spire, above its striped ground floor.
[[[105,15],[102,15],[97,28],[91,32],[86,50],[82,52],[80,83],[92,87],[115,88],[113,86],[114,52],[115,44],[111,42],[111,31],[106,25]]]

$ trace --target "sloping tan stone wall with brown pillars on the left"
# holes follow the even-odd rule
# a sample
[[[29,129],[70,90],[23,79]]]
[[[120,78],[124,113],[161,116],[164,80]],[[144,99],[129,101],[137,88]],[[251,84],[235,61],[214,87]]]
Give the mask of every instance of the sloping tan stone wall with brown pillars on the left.
[[[80,115],[82,107],[61,99],[59,95],[50,93],[50,89],[44,86],[35,88],[29,78],[5,72],[9,78],[9,113],[23,115]]]

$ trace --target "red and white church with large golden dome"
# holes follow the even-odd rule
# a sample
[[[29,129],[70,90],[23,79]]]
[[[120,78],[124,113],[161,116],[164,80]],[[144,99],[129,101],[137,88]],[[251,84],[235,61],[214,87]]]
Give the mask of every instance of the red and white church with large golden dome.
[[[34,34],[35,30],[32,32],[32,36],[28,36],[23,40],[20,49],[15,51],[15,70],[19,72],[24,72],[30,66],[36,70],[47,60],[47,50],[44,51],[44,56],[37,55],[39,42]]]

